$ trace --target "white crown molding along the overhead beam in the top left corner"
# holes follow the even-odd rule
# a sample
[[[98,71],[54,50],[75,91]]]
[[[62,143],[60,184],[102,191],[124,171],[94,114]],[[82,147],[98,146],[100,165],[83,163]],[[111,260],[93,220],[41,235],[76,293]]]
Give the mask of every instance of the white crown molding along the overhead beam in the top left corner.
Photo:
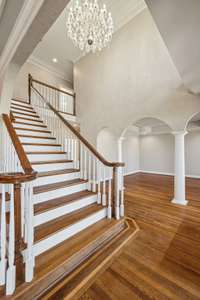
[[[5,73],[6,68],[12,61],[18,46],[27,33],[43,3],[44,0],[24,1],[20,13],[17,16],[15,25],[13,26],[8,41],[0,57],[0,77]]]

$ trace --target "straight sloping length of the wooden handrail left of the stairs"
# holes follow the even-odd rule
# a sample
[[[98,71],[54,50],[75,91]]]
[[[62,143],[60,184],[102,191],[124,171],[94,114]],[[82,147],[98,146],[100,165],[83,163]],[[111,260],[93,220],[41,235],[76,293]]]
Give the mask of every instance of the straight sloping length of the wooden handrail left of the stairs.
[[[18,155],[21,166],[24,170],[25,174],[23,174],[23,175],[26,178],[30,178],[30,180],[35,179],[37,177],[37,172],[33,170],[32,166],[31,166],[31,164],[30,164],[30,162],[27,158],[27,155],[24,151],[24,148],[23,148],[23,146],[22,146],[22,144],[21,144],[21,142],[20,142],[20,140],[19,140],[19,138],[18,138],[18,136],[15,132],[15,129],[12,125],[12,122],[11,122],[9,116],[6,115],[6,114],[2,114],[2,116],[3,116],[4,124],[5,124],[5,126],[8,130],[9,136],[11,138],[12,144],[13,144],[13,146],[15,148],[15,151]],[[1,175],[3,176],[3,174],[1,174]],[[7,175],[5,175],[5,176],[7,176]],[[9,175],[9,176],[11,176],[11,175]],[[9,177],[9,176],[7,176],[7,177]],[[15,176],[16,175],[13,175],[13,179],[14,179]],[[18,175],[17,175],[17,177],[18,177]],[[26,180],[26,181],[28,181],[28,180]]]

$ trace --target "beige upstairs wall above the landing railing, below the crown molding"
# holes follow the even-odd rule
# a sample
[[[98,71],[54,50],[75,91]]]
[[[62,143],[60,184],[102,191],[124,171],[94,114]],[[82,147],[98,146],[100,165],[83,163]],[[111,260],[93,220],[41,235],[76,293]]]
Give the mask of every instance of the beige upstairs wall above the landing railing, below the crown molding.
[[[60,77],[54,76],[52,73],[45,71],[44,69],[37,67],[29,62],[26,62],[20,69],[14,89],[14,97],[27,100],[28,99],[28,74],[31,74],[33,78],[42,82],[46,82],[50,85],[58,88],[71,89],[72,83],[63,80]]]

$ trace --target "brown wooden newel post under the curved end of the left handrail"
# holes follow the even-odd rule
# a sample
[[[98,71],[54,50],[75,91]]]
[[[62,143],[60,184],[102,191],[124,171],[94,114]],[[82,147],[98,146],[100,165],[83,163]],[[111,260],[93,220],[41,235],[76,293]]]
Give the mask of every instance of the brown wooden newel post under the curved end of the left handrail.
[[[21,184],[14,184],[14,212],[15,212],[15,266],[17,279],[24,281],[24,263],[22,251],[25,244],[22,238],[21,220]]]

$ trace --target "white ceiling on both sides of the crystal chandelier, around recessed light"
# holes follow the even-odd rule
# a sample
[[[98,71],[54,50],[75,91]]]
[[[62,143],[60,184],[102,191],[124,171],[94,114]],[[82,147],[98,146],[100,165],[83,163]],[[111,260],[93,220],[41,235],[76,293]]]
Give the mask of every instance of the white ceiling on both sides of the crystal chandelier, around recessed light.
[[[146,7],[144,0],[99,0],[99,2],[105,3],[111,11],[115,31],[128,23]],[[62,12],[32,55],[35,62],[38,61],[40,64],[56,68],[57,71],[63,74],[66,73],[66,69],[72,68],[72,62],[77,61],[82,56],[82,53],[74,47],[66,34],[68,9],[69,7]],[[57,64],[52,62],[54,57],[58,59]]]

